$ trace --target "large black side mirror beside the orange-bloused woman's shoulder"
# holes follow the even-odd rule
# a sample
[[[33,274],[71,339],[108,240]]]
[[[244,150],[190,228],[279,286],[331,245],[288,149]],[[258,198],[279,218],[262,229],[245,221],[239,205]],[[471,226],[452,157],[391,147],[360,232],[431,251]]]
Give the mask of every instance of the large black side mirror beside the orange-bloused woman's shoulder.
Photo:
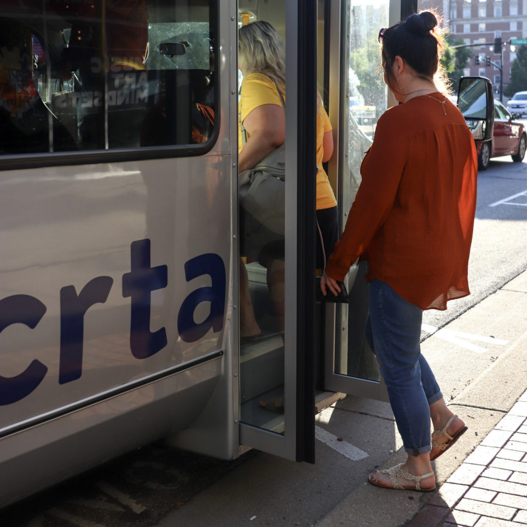
[[[461,77],[457,107],[476,141],[489,141],[494,134],[494,94],[485,77]]]

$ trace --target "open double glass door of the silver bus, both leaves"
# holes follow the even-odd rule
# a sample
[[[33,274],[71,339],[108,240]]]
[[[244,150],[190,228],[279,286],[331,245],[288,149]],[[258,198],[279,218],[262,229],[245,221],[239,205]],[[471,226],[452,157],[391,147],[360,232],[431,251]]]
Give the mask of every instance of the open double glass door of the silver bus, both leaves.
[[[287,72],[282,255],[279,250],[271,250],[270,256],[252,251],[252,219],[242,200],[239,208],[240,354],[234,375],[239,374],[240,448],[313,461],[315,396],[333,391],[387,400],[387,394],[364,338],[364,265],[353,266],[347,277],[349,305],[315,302],[317,88],[311,72],[317,68],[317,84],[333,124],[336,148],[327,173],[343,227],[360,183],[360,163],[388,103],[377,35],[380,27],[401,19],[401,3],[240,0],[238,11],[239,26],[264,20],[285,35]],[[241,106],[244,100],[242,90]],[[282,274],[281,290],[274,289],[275,272]]]

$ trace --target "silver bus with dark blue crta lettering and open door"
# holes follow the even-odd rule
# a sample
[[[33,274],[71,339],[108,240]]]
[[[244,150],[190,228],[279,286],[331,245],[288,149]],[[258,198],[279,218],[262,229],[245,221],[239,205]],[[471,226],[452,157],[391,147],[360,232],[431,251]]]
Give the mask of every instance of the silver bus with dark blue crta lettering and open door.
[[[314,462],[317,408],[386,400],[362,264],[348,303],[316,300],[317,85],[343,226],[394,103],[377,33],[416,0],[0,5],[0,506],[161,438]],[[255,20],[286,39],[283,327],[240,253],[237,34]]]

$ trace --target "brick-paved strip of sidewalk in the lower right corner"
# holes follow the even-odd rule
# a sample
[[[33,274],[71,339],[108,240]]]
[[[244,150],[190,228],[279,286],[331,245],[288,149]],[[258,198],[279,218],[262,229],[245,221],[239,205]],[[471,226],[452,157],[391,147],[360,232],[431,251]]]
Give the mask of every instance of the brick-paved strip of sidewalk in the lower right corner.
[[[406,527],[527,524],[527,392]]]

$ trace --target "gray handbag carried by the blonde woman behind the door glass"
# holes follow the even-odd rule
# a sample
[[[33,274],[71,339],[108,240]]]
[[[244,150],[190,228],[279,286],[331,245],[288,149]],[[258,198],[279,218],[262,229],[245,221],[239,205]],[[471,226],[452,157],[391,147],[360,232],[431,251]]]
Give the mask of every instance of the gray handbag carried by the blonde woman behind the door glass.
[[[275,81],[276,84],[276,81]],[[276,84],[282,108],[284,97]],[[241,124],[242,142],[246,142],[246,131]],[[266,155],[254,168],[245,170],[238,177],[240,205],[264,227],[285,236],[286,203],[286,143],[282,143]]]

